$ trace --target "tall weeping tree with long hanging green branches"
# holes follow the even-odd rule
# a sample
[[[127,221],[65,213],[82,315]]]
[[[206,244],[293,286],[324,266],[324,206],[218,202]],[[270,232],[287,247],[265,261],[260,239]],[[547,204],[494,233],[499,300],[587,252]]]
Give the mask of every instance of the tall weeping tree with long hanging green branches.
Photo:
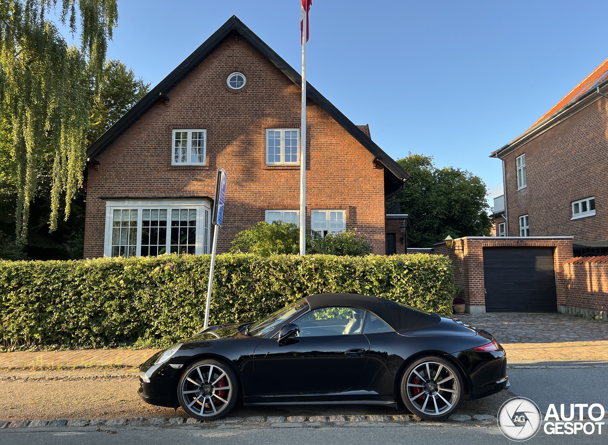
[[[68,46],[54,13],[80,46]],[[17,191],[16,241],[27,240],[30,204],[52,165],[50,231],[82,185],[91,91],[103,76],[116,0],[0,0],[0,114],[10,138],[5,166]]]

